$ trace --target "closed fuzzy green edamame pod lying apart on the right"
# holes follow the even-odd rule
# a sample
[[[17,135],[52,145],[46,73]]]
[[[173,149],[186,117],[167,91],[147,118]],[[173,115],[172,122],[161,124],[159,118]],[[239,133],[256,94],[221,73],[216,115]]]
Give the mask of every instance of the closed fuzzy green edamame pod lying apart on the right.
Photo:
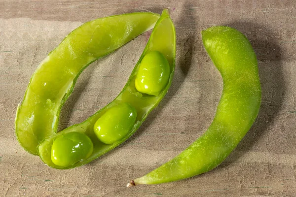
[[[207,172],[231,153],[250,130],[261,102],[255,52],[248,39],[229,27],[202,31],[203,44],[223,79],[222,97],[209,129],[180,155],[127,187],[160,184]]]

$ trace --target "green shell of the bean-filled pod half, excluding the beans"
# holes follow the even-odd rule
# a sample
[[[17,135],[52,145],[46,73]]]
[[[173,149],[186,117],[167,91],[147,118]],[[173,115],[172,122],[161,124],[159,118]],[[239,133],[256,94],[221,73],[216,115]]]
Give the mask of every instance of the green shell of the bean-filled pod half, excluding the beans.
[[[169,70],[169,79],[167,81],[167,84],[163,88],[163,90],[157,95],[157,96],[151,96],[147,94],[142,94],[138,92],[135,88],[135,78],[137,75],[137,72],[139,70],[139,66],[141,64],[142,59],[145,57],[146,54],[148,54],[151,51],[158,51],[163,54],[163,56],[167,59],[170,70]],[[68,169],[77,167],[83,164],[87,164],[96,158],[100,157],[101,155],[107,153],[111,149],[115,148],[122,142],[124,142],[126,139],[128,139],[145,121],[148,114],[153,110],[158,103],[163,99],[165,94],[167,93],[169,87],[171,86],[174,70],[175,70],[175,56],[176,56],[176,33],[175,33],[175,27],[170,19],[170,16],[168,14],[168,10],[164,9],[162,12],[160,18],[156,22],[153,31],[150,35],[150,38],[148,40],[148,43],[144,49],[143,54],[140,57],[140,60],[134,67],[128,82],[124,86],[123,90],[120,92],[120,94],[114,99],[111,103],[109,103],[107,106],[102,108],[101,110],[97,111],[94,115],[89,117],[84,122],[73,125],[63,131],[58,132],[55,135],[52,135],[46,139],[42,143],[40,143],[37,147],[38,154],[42,161],[49,165],[50,167],[58,168],[58,169]],[[128,103],[130,107],[126,107],[124,105],[121,105],[122,103]],[[118,109],[118,105],[122,107],[122,109]],[[123,138],[111,143],[106,144],[109,142],[107,140],[106,143],[103,143],[99,140],[98,136],[96,135],[94,131],[95,123],[100,120],[100,124],[104,128],[111,128],[111,127],[105,127],[106,126],[106,120],[110,119],[110,114],[104,116],[104,114],[109,113],[111,110],[116,107],[116,110],[136,110],[136,121],[133,123],[130,131],[128,131],[126,134],[123,134]],[[110,110],[110,111],[109,111]],[[108,112],[109,111],[109,112]],[[113,113],[113,112],[112,112]],[[118,112],[119,113],[119,112]],[[122,114],[122,115],[120,115]],[[120,117],[125,117],[125,113],[120,113],[119,115],[116,114],[116,119],[120,119]],[[118,118],[119,117],[119,118]],[[103,121],[101,121],[101,119]],[[114,120],[112,120],[113,123]],[[128,121],[132,122],[132,121]],[[118,120],[117,123],[120,127],[128,128],[129,126],[122,123],[122,120]],[[81,132],[87,135],[93,143],[93,152],[92,154],[85,159],[81,159],[79,162],[71,164],[69,166],[60,166],[56,165],[51,160],[51,150],[52,150],[52,144],[55,141],[56,138],[58,138],[60,135],[66,135],[69,132]],[[98,134],[98,133],[97,133]],[[111,132],[111,134],[113,134]],[[99,134],[98,134],[99,135]]]

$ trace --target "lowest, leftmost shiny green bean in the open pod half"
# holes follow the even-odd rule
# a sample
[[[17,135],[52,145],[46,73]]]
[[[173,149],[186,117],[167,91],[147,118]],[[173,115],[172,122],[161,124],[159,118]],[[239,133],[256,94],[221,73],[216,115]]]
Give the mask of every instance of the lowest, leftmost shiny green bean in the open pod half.
[[[54,164],[68,167],[88,158],[93,152],[91,139],[82,132],[68,132],[59,135],[51,147],[51,160]]]

